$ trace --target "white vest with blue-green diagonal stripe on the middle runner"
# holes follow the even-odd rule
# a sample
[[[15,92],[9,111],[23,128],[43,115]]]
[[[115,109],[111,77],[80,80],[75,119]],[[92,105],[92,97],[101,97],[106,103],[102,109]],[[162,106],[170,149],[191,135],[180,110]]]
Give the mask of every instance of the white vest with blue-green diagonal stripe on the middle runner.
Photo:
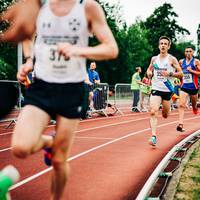
[[[164,59],[160,60],[158,55],[153,62],[153,78],[152,78],[152,90],[158,90],[161,92],[173,92],[173,77],[162,76],[162,71],[174,72],[174,68],[169,62],[170,55],[168,54]]]

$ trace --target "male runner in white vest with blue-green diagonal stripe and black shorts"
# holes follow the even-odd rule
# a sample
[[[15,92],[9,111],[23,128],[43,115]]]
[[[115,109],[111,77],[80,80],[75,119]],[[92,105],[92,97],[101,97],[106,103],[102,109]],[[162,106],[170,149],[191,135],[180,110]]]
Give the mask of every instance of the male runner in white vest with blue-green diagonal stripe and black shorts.
[[[156,146],[157,143],[157,117],[160,105],[162,104],[162,116],[167,118],[170,112],[170,99],[173,94],[171,80],[173,77],[182,77],[182,71],[175,57],[168,54],[171,40],[162,36],[159,39],[160,54],[152,57],[147,69],[147,75],[152,77],[152,92],[150,97],[150,125],[152,137],[150,144]]]

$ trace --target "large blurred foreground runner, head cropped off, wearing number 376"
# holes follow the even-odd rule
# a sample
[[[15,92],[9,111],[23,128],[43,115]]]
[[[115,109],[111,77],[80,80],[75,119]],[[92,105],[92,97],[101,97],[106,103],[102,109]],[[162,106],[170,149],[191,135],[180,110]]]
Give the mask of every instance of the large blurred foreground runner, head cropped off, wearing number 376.
[[[47,0],[36,25],[35,82],[26,92],[25,107],[19,115],[11,146],[19,158],[46,149],[46,164],[53,166],[51,199],[59,200],[68,179],[66,160],[74,132],[87,108],[86,58],[112,59],[117,56],[118,48],[103,9],[93,0]],[[88,47],[90,32],[99,45]],[[25,55],[30,62],[32,52]],[[18,80],[24,82],[31,70],[33,64],[22,65]],[[57,121],[54,137],[42,135],[51,117]]]

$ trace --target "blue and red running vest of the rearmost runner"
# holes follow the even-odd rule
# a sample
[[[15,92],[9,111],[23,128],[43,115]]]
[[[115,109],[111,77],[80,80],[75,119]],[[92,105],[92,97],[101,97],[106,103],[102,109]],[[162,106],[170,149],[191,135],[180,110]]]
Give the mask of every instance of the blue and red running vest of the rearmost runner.
[[[192,74],[187,70],[187,67],[191,67],[192,70],[196,70],[194,65],[194,58],[190,61],[189,64],[186,63],[186,59],[183,60],[182,63],[182,71],[183,71],[183,82],[181,88],[195,90],[198,89],[198,76]]]

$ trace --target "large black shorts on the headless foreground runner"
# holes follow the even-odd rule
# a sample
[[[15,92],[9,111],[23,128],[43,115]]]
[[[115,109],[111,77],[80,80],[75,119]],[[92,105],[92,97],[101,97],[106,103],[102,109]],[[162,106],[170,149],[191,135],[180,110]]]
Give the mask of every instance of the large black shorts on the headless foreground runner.
[[[60,84],[36,79],[27,89],[24,103],[37,106],[52,118],[82,118],[88,108],[88,91],[84,82]]]

